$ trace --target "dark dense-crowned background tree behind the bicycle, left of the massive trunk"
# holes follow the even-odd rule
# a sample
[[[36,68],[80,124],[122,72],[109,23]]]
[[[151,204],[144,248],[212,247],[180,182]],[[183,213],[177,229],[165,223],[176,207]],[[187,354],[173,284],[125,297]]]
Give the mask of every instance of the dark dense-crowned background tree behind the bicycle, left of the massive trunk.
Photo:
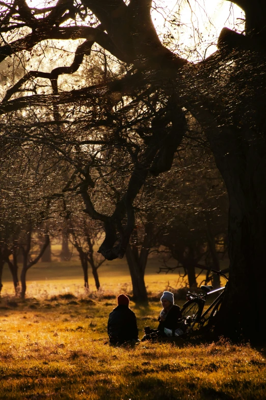
[[[223,247],[224,255],[222,242],[227,235],[228,199],[208,148],[203,146],[200,150],[192,145],[193,140],[174,161],[179,174],[169,173],[172,179],[168,178],[161,190],[158,185],[160,201],[166,207],[161,213],[161,226],[157,228],[157,241],[177,261],[177,267],[169,270],[182,267],[188,275],[189,286],[197,287],[195,268],[208,273],[210,268],[220,270],[218,248]],[[213,280],[212,284],[219,287],[219,277]]]

